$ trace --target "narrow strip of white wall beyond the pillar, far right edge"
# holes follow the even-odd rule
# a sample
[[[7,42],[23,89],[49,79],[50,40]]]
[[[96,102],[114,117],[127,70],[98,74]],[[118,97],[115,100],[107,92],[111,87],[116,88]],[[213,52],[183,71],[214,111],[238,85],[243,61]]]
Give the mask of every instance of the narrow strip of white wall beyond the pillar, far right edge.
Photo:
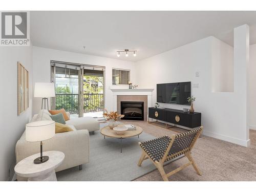
[[[250,46],[249,69],[250,129],[256,130],[256,44]]]

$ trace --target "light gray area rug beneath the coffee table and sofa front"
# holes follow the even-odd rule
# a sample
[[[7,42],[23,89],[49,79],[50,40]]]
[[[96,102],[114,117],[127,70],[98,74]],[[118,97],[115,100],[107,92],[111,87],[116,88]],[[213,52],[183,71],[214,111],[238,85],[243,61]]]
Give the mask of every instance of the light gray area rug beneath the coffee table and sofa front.
[[[89,163],[83,164],[82,170],[77,167],[57,172],[58,181],[131,181],[156,167],[150,160],[145,160],[142,166],[137,165],[141,148],[138,142],[154,139],[150,134],[142,133],[139,138],[132,137],[122,140],[120,153],[120,139],[105,139],[97,131],[90,135]]]

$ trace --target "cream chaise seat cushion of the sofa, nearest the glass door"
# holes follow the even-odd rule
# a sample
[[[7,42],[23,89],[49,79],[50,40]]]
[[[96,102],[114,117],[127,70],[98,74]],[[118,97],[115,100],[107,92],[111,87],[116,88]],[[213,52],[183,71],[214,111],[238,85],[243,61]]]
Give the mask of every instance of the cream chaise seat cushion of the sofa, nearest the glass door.
[[[77,130],[88,130],[89,132],[99,130],[99,121],[93,117],[71,118],[66,121],[68,125],[74,125]]]

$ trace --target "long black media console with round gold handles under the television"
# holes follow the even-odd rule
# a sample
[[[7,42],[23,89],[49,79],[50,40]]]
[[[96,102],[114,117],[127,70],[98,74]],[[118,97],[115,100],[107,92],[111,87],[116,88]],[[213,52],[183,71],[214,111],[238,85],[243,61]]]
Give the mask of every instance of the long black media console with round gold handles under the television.
[[[185,126],[190,129],[201,126],[201,113],[197,112],[185,113],[182,110],[168,108],[148,108],[148,122],[150,122],[149,118],[164,121],[166,128],[168,128],[167,123]]]

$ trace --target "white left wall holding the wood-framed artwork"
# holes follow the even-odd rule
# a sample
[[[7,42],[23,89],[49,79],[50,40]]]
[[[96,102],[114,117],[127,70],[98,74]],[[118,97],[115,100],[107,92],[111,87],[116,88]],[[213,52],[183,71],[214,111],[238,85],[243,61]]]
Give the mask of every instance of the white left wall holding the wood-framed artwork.
[[[29,108],[19,116],[17,116],[17,61],[21,62],[29,72]],[[32,47],[0,47],[0,65],[0,181],[6,181],[9,179],[9,168],[13,168],[15,164],[15,144],[32,115]]]

